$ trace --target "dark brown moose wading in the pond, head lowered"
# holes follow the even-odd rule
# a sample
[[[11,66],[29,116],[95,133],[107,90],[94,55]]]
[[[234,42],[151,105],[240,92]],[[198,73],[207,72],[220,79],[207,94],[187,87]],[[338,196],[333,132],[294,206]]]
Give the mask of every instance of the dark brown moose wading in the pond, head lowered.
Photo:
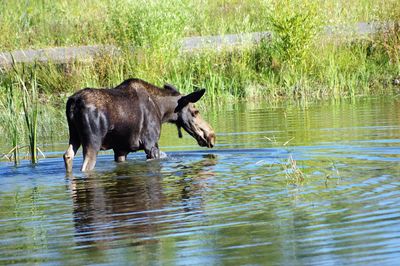
[[[144,150],[147,159],[165,156],[158,147],[163,123],[176,124],[212,148],[215,133],[202,119],[194,103],[205,89],[182,95],[166,84],[159,88],[141,79],[128,79],[111,89],[82,89],[67,100],[69,146],[64,154],[65,169],[72,172],[73,159],[82,145],[81,171],[93,170],[100,150],[113,149],[114,160],[123,162],[130,152]]]

